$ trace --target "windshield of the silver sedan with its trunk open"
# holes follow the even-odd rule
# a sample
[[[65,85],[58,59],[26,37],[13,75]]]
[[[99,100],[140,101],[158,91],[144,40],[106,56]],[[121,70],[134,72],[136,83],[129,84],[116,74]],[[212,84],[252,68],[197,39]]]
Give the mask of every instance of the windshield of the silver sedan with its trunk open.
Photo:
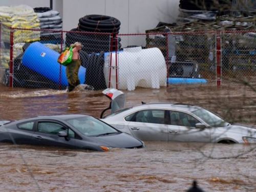
[[[220,116],[202,108],[196,111],[192,112],[202,120],[204,120],[206,123],[208,123],[210,126],[227,126],[229,123],[226,122],[223,118]]]

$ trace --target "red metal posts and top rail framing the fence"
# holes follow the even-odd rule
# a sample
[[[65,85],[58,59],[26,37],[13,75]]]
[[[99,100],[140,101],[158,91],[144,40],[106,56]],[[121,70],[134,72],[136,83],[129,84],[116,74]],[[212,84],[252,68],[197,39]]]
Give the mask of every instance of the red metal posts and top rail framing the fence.
[[[2,27],[3,27],[3,24],[0,24],[0,41],[2,40],[2,36],[1,36],[1,31],[2,31]],[[14,45],[14,31],[16,30],[28,30],[28,31],[51,31],[51,32],[54,32],[53,30],[38,30],[38,29],[20,29],[20,28],[12,28],[10,27],[9,28],[10,30],[10,62],[9,62],[9,87],[13,87],[13,45]],[[61,32],[61,39],[63,39],[63,34],[64,33],[68,33],[70,31],[60,31]],[[118,84],[119,84],[119,63],[118,62],[118,50],[119,50],[119,42],[118,40],[115,40],[114,39],[118,38],[118,37],[131,37],[131,36],[135,36],[135,37],[140,37],[142,38],[143,36],[146,36],[148,37],[149,35],[153,35],[153,36],[156,36],[156,35],[164,35],[165,36],[165,42],[166,42],[166,49],[168,48],[168,35],[169,34],[172,34],[172,35],[205,35],[205,34],[208,34],[208,33],[212,33],[215,35],[215,48],[214,48],[214,55],[215,55],[215,67],[216,67],[216,72],[215,72],[215,77],[216,77],[216,85],[219,87],[221,86],[221,83],[222,83],[222,80],[223,80],[223,49],[222,49],[222,46],[223,46],[223,40],[222,40],[222,35],[225,35],[227,33],[233,33],[233,34],[239,34],[239,33],[247,33],[247,32],[256,32],[256,31],[253,31],[253,30],[241,30],[241,31],[224,31],[224,30],[212,30],[212,31],[194,31],[194,32],[170,32],[170,33],[141,33],[141,34],[109,34],[110,35],[110,49],[109,49],[109,53],[110,53],[110,65],[109,65],[109,69],[111,68],[115,68],[116,70],[116,87],[115,88],[119,88]],[[90,32],[92,33],[92,32]],[[92,34],[98,34],[98,33],[92,33]],[[143,37],[144,38],[144,37]],[[146,39],[145,39],[146,41]],[[63,50],[63,42],[61,41],[60,43],[60,50],[62,51]],[[112,48],[115,48],[115,50],[113,51]],[[1,47],[0,47],[1,48]],[[115,63],[112,63],[112,56],[113,56],[113,53],[116,53],[115,54]],[[1,56],[1,49],[0,49],[0,56]],[[239,56],[238,56],[239,57]],[[249,57],[249,55],[248,55]],[[169,66],[169,55],[168,55],[168,51],[166,52],[166,55],[165,55],[165,64],[166,64],[166,78],[168,77],[168,66]],[[2,61],[0,59],[0,69],[2,67]],[[61,67],[61,66],[60,66]],[[61,73],[61,70],[59,70],[59,73]],[[111,73],[111,70],[109,70],[109,73]],[[0,78],[1,77],[1,74],[0,74]],[[60,78],[60,74],[59,74],[59,78]],[[111,81],[111,75],[109,74],[109,82],[107,83],[108,84],[108,87],[110,87],[110,81]],[[166,87],[169,87],[169,83],[168,81],[166,82]],[[60,89],[60,87],[59,87]]]

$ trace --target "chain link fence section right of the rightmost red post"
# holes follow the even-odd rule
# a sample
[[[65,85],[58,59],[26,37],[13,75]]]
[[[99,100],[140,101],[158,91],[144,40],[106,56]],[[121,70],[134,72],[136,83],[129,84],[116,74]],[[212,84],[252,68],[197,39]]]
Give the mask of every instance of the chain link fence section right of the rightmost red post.
[[[224,31],[222,41],[222,82],[256,82],[256,31]]]

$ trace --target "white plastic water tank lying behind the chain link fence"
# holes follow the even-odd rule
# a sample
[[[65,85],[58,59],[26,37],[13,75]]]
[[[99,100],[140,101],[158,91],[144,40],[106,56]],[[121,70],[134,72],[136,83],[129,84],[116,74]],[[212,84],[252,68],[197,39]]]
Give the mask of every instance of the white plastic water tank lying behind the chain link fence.
[[[106,87],[129,91],[135,87],[159,89],[166,86],[166,70],[160,49],[141,47],[105,55],[103,69]]]

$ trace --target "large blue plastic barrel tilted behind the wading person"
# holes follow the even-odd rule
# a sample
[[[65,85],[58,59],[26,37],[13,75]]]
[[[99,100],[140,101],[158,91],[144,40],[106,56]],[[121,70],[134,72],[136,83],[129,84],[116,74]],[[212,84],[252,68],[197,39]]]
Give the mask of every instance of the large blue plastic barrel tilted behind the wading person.
[[[66,77],[66,67],[57,62],[59,53],[48,48],[40,42],[33,42],[24,52],[22,63],[31,70],[59,83],[59,70],[61,66],[60,84],[68,86]],[[78,77],[81,83],[84,83],[86,78],[86,68],[80,67]]]

